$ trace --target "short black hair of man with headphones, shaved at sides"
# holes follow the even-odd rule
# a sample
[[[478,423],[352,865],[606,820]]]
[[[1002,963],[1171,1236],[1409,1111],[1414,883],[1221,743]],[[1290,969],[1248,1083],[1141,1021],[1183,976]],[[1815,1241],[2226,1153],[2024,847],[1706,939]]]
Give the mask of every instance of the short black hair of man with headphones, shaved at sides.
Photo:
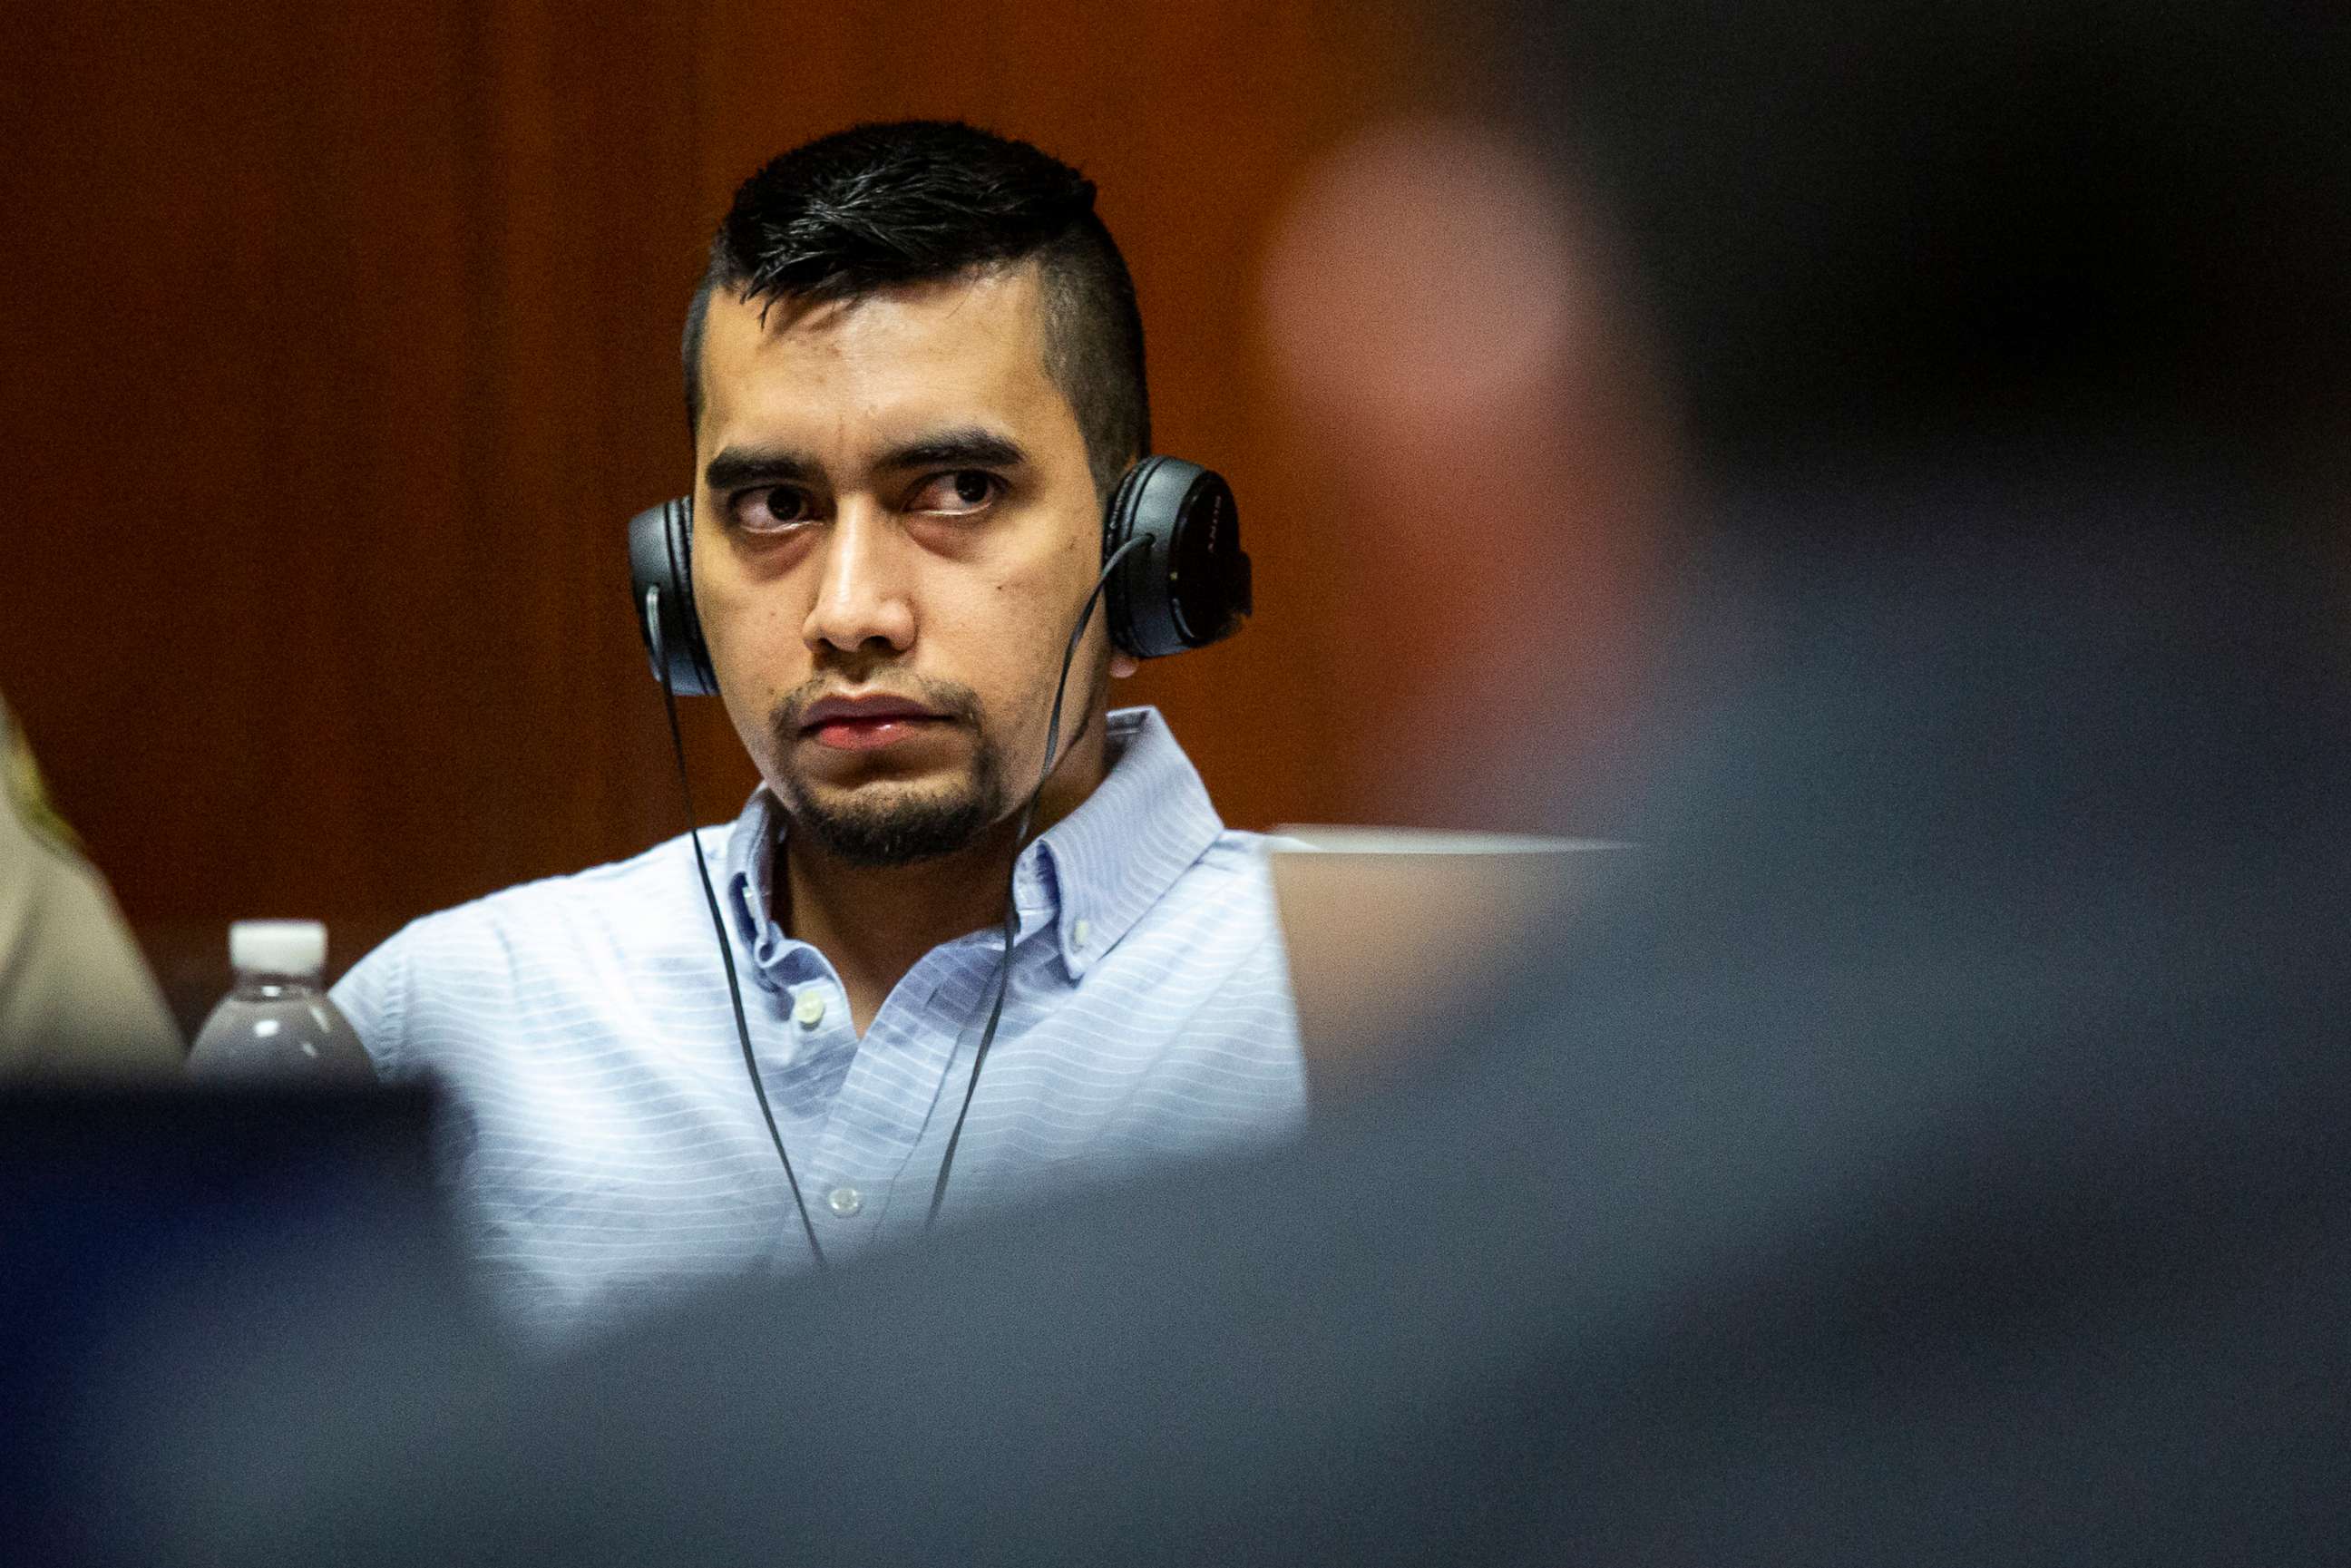
[[[1093,212],[1093,181],[1025,141],[947,120],[856,125],[783,153],[736,188],[686,308],[686,423],[703,416],[710,296],[837,301],[1037,263],[1044,367],[1110,494],[1152,449],[1143,310]]]

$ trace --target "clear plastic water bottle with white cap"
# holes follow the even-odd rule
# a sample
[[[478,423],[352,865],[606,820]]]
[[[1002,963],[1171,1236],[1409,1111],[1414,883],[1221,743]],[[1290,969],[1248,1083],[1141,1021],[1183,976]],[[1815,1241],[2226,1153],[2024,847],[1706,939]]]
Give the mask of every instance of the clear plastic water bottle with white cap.
[[[188,1072],[207,1079],[367,1081],[374,1063],[320,987],[327,926],[240,919],[228,926],[237,985],[195,1037]]]

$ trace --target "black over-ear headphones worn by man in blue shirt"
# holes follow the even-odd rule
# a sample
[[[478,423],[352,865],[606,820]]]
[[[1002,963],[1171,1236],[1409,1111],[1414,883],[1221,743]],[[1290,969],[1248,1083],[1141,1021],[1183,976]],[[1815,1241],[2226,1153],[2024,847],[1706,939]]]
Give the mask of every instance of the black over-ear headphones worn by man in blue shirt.
[[[1103,592],[1112,646],[1161,658],[1241,630],[1251,614],[1248,555],[1223,475],[1166,456],[1128,468],[1103,512],[1103,559],[1138,538],[1143,548],[1119,562]],[[628,571],[654,679],[668,661],[677,696],[715,696],[719,682],[694,609],[691,501],[663,501],[628,520]],[[658,632],[649,616],[661,616]]]

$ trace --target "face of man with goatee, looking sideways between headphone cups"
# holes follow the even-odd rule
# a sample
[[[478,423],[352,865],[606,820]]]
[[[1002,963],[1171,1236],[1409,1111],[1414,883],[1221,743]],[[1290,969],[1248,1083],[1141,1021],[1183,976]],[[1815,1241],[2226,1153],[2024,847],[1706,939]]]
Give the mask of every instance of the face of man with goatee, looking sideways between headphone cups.
[[[1034,268],[710,301],[696,607],[762,778],[860,865],[964,849],[1044,762],[1103,529],[1039,303]],[[1103,649],[1098,611],[1065,743]]]

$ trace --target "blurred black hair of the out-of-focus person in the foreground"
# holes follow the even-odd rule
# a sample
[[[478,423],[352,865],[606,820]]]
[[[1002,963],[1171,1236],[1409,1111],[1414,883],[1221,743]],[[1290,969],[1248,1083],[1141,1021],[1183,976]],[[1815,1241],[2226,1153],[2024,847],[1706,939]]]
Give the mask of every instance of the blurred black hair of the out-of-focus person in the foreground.
[[[1716,465],[1958,433],[2264,463],[2342,435],[2335,7],[1526,12],[1514,103],[1627,242]]]

